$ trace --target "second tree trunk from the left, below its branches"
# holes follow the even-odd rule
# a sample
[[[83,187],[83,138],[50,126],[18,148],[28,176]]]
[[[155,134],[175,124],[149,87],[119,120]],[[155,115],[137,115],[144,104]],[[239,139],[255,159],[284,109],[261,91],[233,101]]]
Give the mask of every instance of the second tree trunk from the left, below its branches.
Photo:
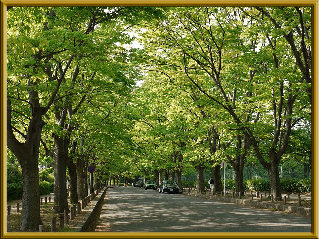
[[[66,157],[64,139],[54,135],[54,203],[52,211],[69,210],[66,192]]]

